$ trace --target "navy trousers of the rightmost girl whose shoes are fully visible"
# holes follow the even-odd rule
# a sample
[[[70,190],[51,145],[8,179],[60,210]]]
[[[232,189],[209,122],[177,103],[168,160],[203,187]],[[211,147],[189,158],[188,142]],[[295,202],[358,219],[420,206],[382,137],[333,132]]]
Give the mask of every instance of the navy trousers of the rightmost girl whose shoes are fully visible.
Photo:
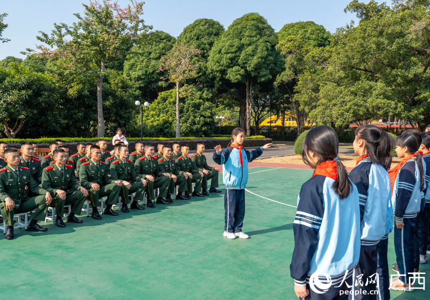
[[[394,250],[397,261],[398,271],[403,283],[409,283],[414,267],[414,234],[416,217],[403,218],[404,226],[398,229],[394,225]]]

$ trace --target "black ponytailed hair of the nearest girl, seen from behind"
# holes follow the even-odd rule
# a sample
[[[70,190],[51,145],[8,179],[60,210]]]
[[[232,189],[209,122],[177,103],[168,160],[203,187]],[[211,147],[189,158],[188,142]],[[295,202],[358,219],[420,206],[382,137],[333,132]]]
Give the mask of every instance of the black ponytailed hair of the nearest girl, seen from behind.
[[[307,151],[312,151],[318,157],[315,167],[321,162],[326,160],[333,160],[337,157],[339,149],[339,140],[337,139],[336,131],[333,128],[320,125],[316,126],[307,132],[304,137],[303,145],[301,147],[301,158],[307,165],[311,165]],[[348,173],[344,165],[339,159],[336,160],[337,178],[334,180],[332,188],[334,192],[339,195],[340,199],[346,198],[352,188],[351,181],[349,181]]]

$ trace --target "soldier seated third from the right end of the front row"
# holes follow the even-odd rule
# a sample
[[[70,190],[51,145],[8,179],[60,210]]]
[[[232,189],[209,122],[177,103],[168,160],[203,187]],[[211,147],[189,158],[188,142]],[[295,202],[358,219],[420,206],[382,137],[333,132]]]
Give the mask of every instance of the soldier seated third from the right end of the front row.
[[[179,175],[179,170],[176,167],[176,164],[174,163],[174,160],[170,158],[171,156],[171,148],[169,145],[165,145],[162,147],[163,157],[158,159],[158,174],[163,174],[164,176],[168,176],[171,178],[170,180],[170,186],[168,188],[168,194],[170,195],[172,192],[174,192],[174,187],[178,185],[177,187],[177,195],[176,199],[182,199],[187,200],[190,199],[190,197],[184,197],[182,196],[182,192],[187,190],[186,186],[186,179],[184,175]],[[153,156],[152,156],[153,158]],[[159,204],[170,204],[173,203],[173,200],[171,197],[166,197],[164,200],[163,198],[157,198],[156,203]]]

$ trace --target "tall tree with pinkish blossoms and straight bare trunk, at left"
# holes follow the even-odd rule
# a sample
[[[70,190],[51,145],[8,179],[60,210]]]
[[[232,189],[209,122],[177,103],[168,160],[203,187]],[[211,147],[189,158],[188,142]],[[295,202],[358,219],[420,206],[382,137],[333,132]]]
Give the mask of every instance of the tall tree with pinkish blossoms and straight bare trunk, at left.
[[[131,45],[151,28],[144,24],[144,2],[132,1],[131,5],[121,8],[117,0],[89,1],[84,6],[84,16],[74,13],[77,23],[68,26],[54,23],[51,35],[39,31],[37,39],[47,44],[38,45],[39,56],[60,56],[76,73],[89,72],[97,82],[97,136],[104,136],[104,117],[102,101],[102,82],[106,66],[115,65],[124,56],[123,49]],[[71,36],[71,40],[65,37]],[[56,49],[53,49],[56,48]],[[34,52],[31,49],[27,51]]]

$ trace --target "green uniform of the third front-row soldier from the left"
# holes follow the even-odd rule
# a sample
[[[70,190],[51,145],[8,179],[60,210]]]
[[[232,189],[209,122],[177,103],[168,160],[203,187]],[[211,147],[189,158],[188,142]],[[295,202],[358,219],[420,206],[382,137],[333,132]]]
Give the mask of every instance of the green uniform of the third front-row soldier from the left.
[[[121,187],[107,176],[107,165],[102,161],[98,161],[97,165],[92,160],[82,163],[79,168],[79,181],[80,185],[88,189],[92,207],[100,205],[100,197],[107,196],[106,204],[115,204],[118,200]],[[98,183],[100,189],[94,190],[90,183]]]

